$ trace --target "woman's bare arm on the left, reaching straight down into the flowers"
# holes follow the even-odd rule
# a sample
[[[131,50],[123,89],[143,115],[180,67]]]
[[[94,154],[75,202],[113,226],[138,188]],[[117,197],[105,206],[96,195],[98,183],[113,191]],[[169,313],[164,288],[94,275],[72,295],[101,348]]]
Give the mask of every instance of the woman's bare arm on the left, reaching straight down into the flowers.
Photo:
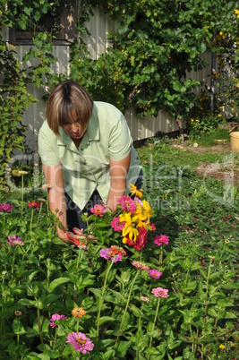
[[[47,184],[50,185],[48,190],[49,209],[55,214],[62,224],[62,229],[56,226],[57,235],[65,243],[74,244],[66,236],[67,222],[66,222],[66,204],[64,196],[64,179],[63,168],[61,164],[49,167],[42,165]]]

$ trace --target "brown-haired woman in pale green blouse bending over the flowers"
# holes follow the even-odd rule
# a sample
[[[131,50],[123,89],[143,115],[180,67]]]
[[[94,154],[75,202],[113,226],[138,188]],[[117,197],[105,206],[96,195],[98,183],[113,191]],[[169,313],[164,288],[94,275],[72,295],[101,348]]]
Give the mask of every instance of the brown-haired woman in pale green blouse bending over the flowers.
[[[38,134],[38,151],[47,184],[49,208],[67,227],[85,228],[81,213],[104,202],[115,211],[118,199],[141,186],[141,164],[123,114],[95,101],[75,81],[58,84],[47,101],[47,122]]]

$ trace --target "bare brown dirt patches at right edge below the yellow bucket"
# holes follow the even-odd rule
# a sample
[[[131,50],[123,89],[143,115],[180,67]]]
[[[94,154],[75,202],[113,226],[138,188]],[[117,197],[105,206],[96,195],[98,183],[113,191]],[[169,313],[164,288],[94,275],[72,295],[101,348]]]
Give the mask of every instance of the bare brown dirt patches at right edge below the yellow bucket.
[[[194,169],[195,173],[202,177],[213,177],[224,181],[224,183],[239,186],[239,157],[230,149],[230,143],[222,143],[211,147],[184,146],[174,144],[173,147],[181,150],[190,150],[195,154],[203,154],[206,151],[225,153],[225,160],[222,163],[201,162],[199,167]]]

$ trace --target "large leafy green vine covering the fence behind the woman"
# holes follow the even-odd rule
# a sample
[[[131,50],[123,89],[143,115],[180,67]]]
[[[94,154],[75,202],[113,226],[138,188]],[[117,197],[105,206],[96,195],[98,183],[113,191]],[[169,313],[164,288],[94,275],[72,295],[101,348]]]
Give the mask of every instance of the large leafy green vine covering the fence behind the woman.
[[[74,80],[123,111],[133,103],[139,116],[157,116],[164,108],[182,118],[200,108],[193,92],[200,82],[186,73],[201,71],[206,65],[203,53],[221,52],[213,39],[222,27],[234,31],[234,1],[91,3],[102,5],[118,21],[118,32],[109,35],[113,47],[98,60],[80,62],[73,56]]]

